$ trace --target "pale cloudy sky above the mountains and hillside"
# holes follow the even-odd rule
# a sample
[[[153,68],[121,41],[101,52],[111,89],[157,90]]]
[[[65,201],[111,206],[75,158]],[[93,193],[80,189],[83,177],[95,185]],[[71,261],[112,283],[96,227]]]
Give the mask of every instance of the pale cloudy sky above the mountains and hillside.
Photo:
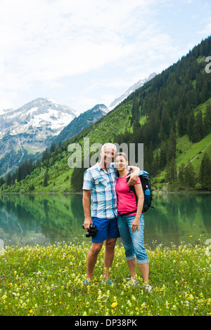
[[[0,113],[109,107],[210,34],[210,0],[0,0]]]

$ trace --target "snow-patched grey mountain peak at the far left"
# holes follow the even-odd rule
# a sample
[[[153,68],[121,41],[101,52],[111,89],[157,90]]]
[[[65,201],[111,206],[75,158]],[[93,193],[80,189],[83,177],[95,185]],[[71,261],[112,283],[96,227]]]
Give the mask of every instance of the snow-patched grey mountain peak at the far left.
[[[77,112],[48,98],[7,110],[0,116],[0,176],[43,151]]]

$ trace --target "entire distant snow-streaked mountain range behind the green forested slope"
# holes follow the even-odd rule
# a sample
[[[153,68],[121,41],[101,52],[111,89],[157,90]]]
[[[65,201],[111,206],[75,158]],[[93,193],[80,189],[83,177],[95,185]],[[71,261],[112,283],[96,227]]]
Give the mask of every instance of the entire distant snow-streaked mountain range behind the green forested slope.
[[[109,108],[95,105],[79,114],[56,100],[37,98],[16,110],[4,110],[0,115],[0,176],[15,171],[26,159],[34,161],[51,143],[63,143],[94,124],[154,76],[138,81]]]

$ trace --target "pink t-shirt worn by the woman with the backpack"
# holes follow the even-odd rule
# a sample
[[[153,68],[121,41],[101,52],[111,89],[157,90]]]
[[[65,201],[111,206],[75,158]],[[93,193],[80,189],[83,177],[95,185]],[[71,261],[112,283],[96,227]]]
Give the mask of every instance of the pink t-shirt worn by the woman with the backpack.
[[[137,209],[136,197],[134,196],[134,192],[129,192],[129,186],[127,185],[126,179],[127,175],[123,176],[122,178],[119,176],[116,184],[116,192],[118,197],[117,211],[120,214],[124,214]],[[140,178],[138,178],[135,185],[137,183],[141,183]],[[129,216],[135,215],[136,212],[129,214]]]

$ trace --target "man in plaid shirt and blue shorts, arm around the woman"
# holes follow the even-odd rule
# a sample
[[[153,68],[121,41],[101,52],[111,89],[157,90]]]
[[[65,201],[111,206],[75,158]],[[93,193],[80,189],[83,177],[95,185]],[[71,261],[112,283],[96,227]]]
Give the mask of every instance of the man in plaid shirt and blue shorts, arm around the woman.
[[[105,241],[106,249],[104,254],[104,281],[108,284],[112,282],[108,279],[109,268],[113,263],[115,253],[115,243],[120,233],[117,227],[117,194],[115,185],[117,174],[110,163],[113,161],[116,146],[113,143],[106,143],[101,148],[101,160],[84,173],[83,184],[83,207],[84,207],[84,228],[89,229],[91,223],[96,225],[97,234],[91,237],[91,248],[87,256],[87,281],[92,278],[94,266],[98,253],[101,251]],[[140,169],[130,166],[134,173],[131,176],[129,185],[133,185],[138,180]],[[91,196],[91,216],[89,211],[89,199]]]

